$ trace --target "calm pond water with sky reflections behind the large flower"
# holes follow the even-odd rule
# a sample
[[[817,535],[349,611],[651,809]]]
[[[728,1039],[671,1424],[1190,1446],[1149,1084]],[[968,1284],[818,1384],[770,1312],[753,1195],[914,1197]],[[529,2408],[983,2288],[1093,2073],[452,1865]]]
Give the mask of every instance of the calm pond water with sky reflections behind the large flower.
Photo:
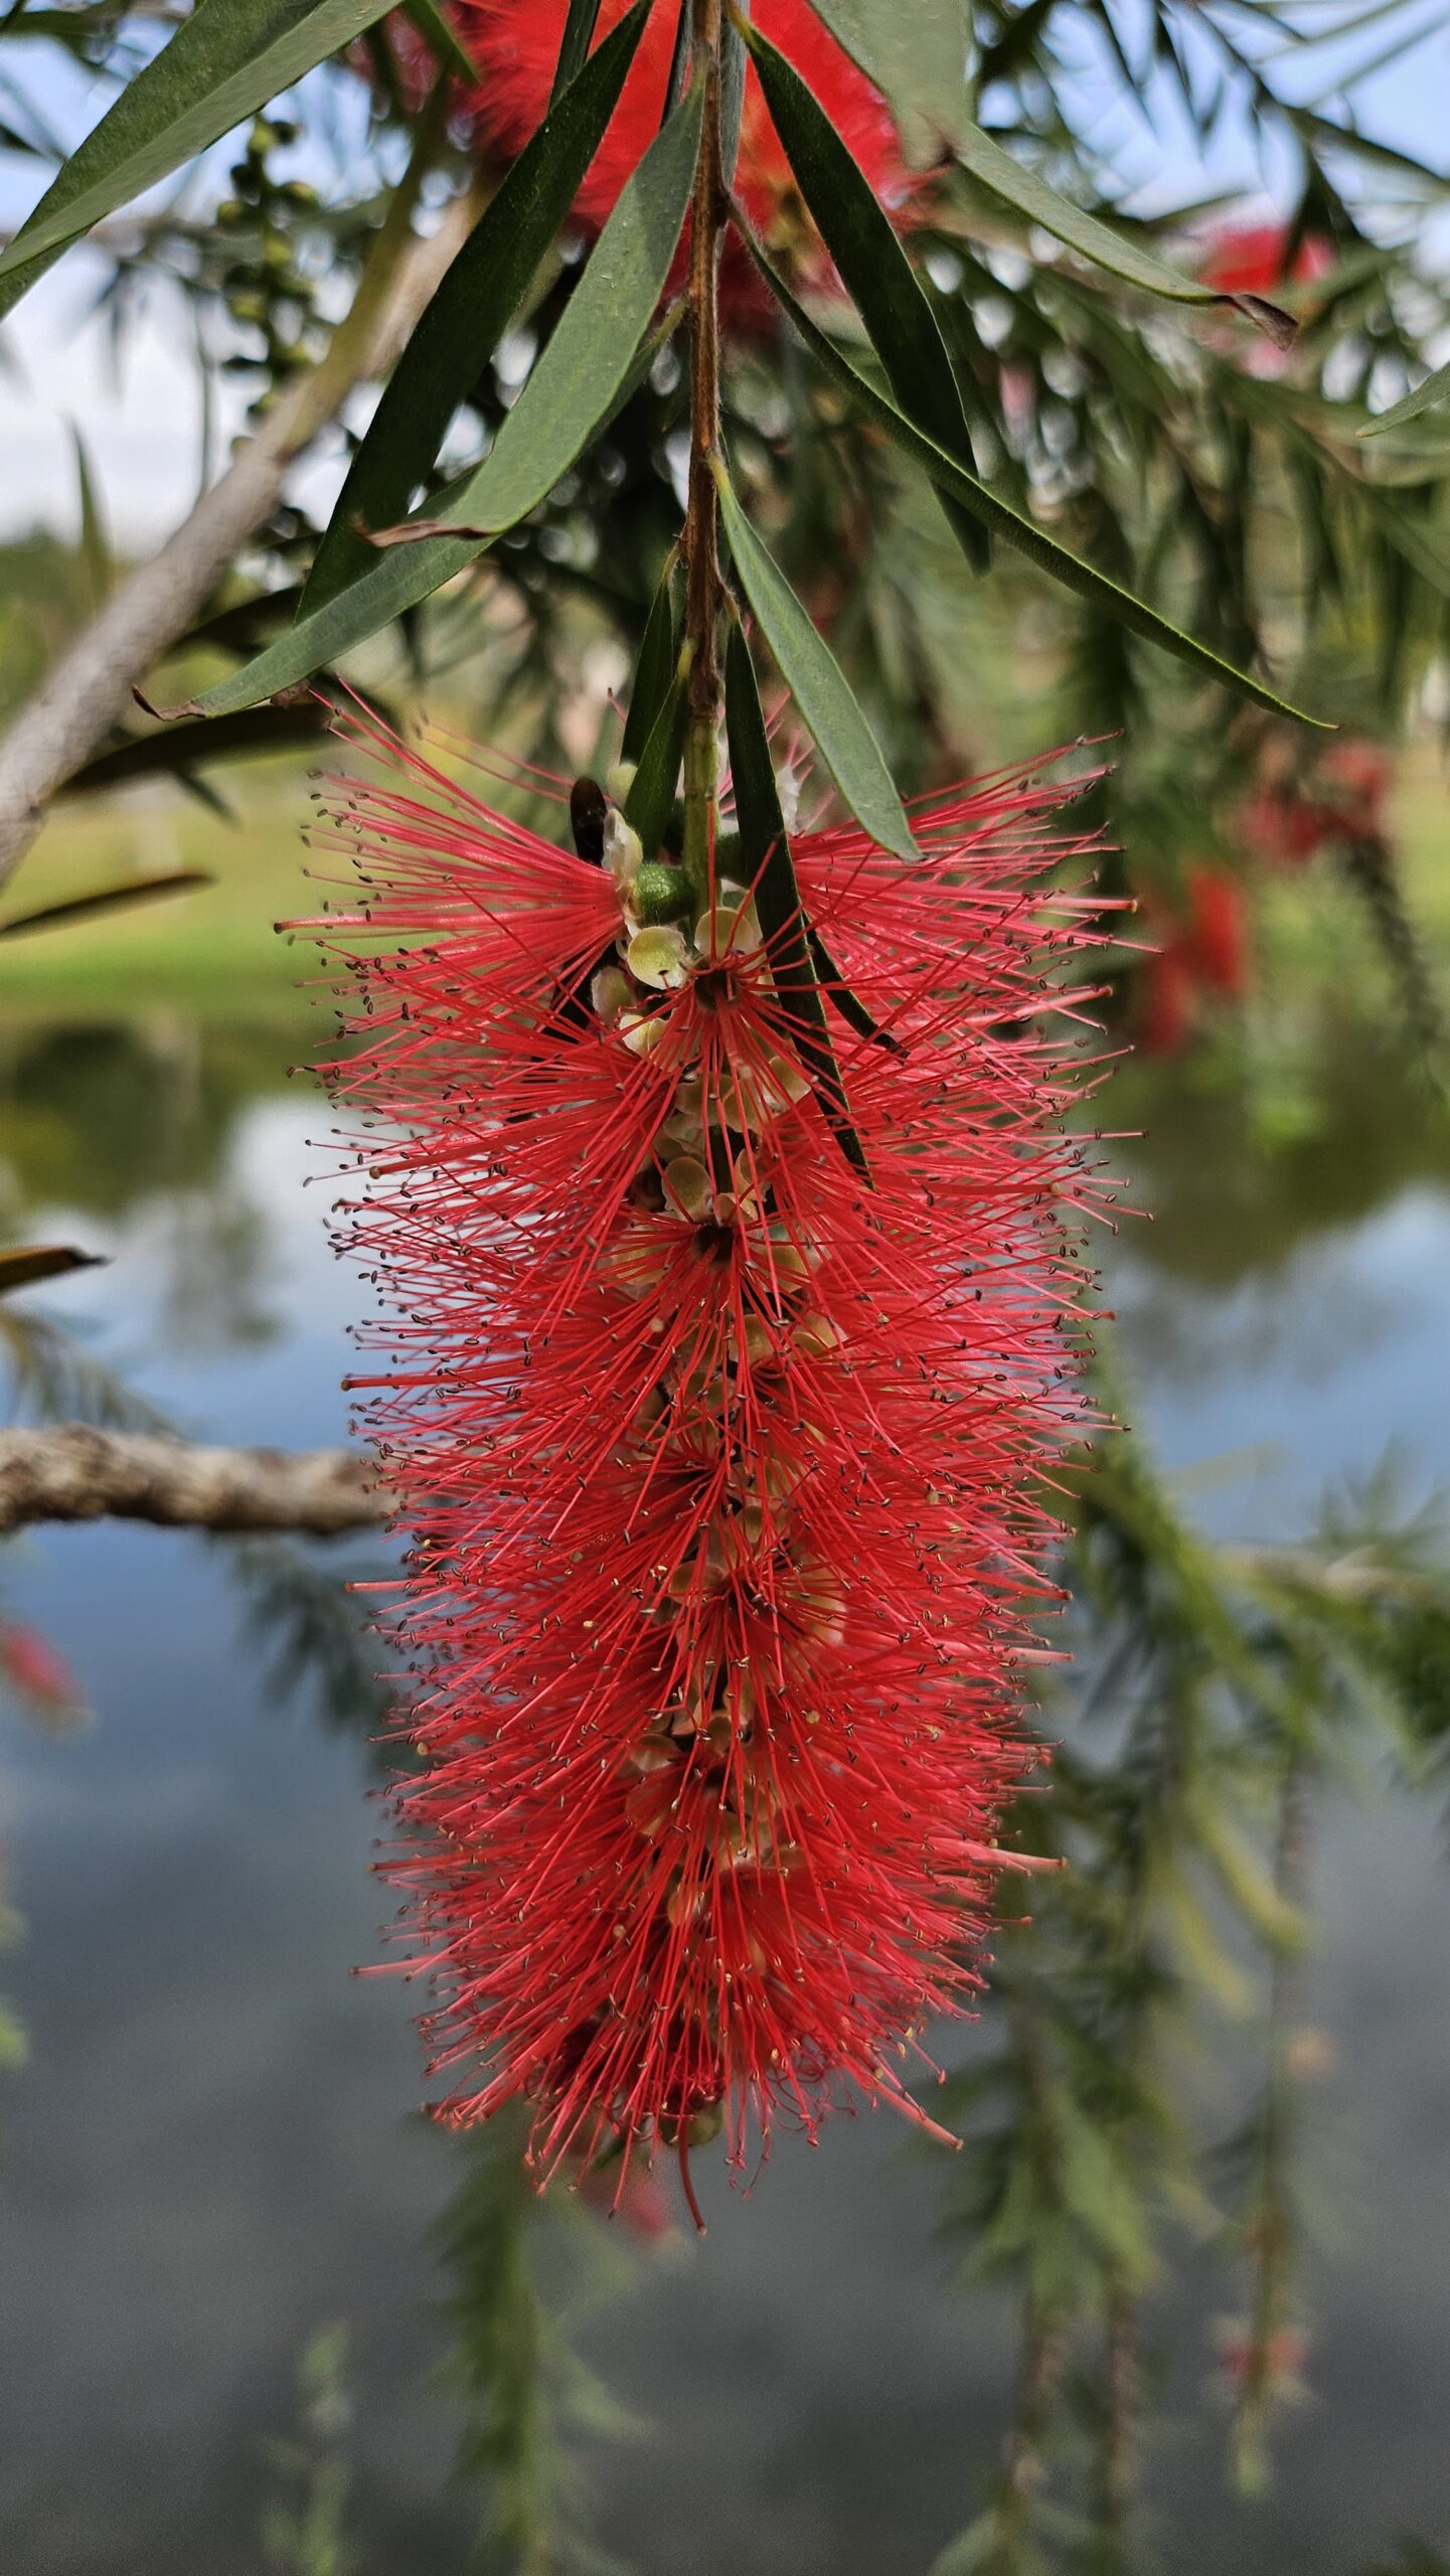
[[[283,1054],[162,1015],[36,1025],[0,1069],[5,1213],[113,1257],[49,1311],[209,1437],[345,1422],[361,1298],[325,1244],[325,1113],[286,1092]],[[1156,1224],[1107,1247],[1159,1455],[1247,1453],[1192,1486],[1221,1533],[1295,1533],[1386,1445],[1411,1489],[1450,1481],[1445,1151],[1344,1046],[1321,1090],[1319,1118],[1265,1139],[1231,1092],[1164,1084],[1131,1193]],[[46,1530],[0,1574],[95,1708],[62,1739],[0,1713],[26,1922],[3,1968],[31,2035],[0,2087],[0,2566],[255,2571],[299,2352],[345,2318],[363,2568],[458,2568],[430,2228],[461,2151],[417,2120],[404,1991],[350,1976],[384,1911],[366,1741],[281,1703],[227,1548]],[[1337,2061],[1313,2396],[1272,2499],[1231,2504],[1223,2290],[1190,2259],[1154,2318],[1174,2576],[1352,2576],[1396,2527],[1450,2522],[1442,1819],[1370,1770],[1329,1819],[1319,1888],[1313,2017]],[[876,2115],[814,2154],[783,2138],[749,2197],[703,2179],[708,2239],[652,2254],[587,2336],[652,2427],[595,2463],[608,2543],[646,2576],[925,2576],[1010,2401],[1004,2321],[932,2241],[940,2166]]]

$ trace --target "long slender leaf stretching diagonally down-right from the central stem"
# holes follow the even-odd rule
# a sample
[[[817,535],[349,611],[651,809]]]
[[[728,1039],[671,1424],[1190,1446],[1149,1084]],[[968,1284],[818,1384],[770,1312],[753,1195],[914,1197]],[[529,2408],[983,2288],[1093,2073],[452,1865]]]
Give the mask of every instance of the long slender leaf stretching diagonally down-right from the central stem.
[[[1316,724],[1324,732],[1332,732],[1332,726],[1324,726],[1321,716],[1306,714],[1303,706],[1290,706],[1288,698],[1280,698],[1272,688],[1265,688],[1265,683],[1254,680],[1252,672],[1239,670],[1234,662],[1226,662],[1223,654],[1210,652],[1208,644],[1200,644],[1195,636],[1185,634],[1180,626],[1172,623],[1172,618],[1159,616],[1159,611],[1149,608],[1149,603],[1141,600],[1133,590],[1123,590],[1120,582],[1113,582],[1105,572],[1097,572],[1095,564],[1084,564],[1084,559],[1079,554],[1071,554],[1069,546],[1059,546],[1059,541],[1048,536],[1046,528],[1038,528],[1035,520],[1022,518],[1020,510],[1012,510],[1010,502],[999,500],[997,492],[992,492],[984,482],[968,474],[966,466],[956,461],[956,456],[948,456],[935,443],[935,438],[927,438],[914,420],[907,420],[904,412],[899,412],[896,404],[886,399],[886,394],[881,394],[873,384],[868,384],[868,379],[850,363],[850,358],[842,355],[834,340],[816,322],[811,322],[804,304],[798,304],[798,299],[786,286],[786,278],[770,265],[770,260],[760,250],[760,242],[755,242],[749,234],[747,242],[755,265],[780,299],[780,307],[796,325],[796,332],[801,335],[811,355],[819,358],[827,376],[842,389],[842,394],[850,394],[850,399],[860,404],[865,417],[873,420],[876,428],[894,440],[894,446],[899,446],[907,456],[914,456],[914,461],[932,477],[937,489],[950,492],[956,500],[966,502],[966,507],[976,510],[1007,546],[1015,546],[1017,554],[1030,556],[1033,564],[1038,564],[1043,572],[1051,572],[1053,582],[1061,582],[1064,590],[1074,590],[1082,600],[1092,600],[1095,608],[1102,608],[1107,616],[1118,618],[1120,626],[1125,626],[1136,636],[1144,636],[1146,644],[1159,644],[1162,652],[1172,652],[1180,662],[1190,662],[1192,670],[1203,672],[1203,677],[1218,680],[1223,688],[1236,690],[1239,698],[1252,698],[1254,706],[1267,706],[1275,716],[1295,716],[1298,724]]]

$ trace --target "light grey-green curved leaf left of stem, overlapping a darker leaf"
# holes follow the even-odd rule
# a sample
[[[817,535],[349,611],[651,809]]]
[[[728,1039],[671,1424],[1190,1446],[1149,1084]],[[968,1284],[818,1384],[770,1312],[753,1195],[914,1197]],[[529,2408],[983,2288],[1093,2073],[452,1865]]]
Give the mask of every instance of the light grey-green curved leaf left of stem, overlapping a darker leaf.
[[[227,716],[276,696],[278,688],[294,688],[453,580],[500,531],[546,500],[610,420],[618,399],[649,368],[649,348],[639,358],[636,353],[664,291],[690,204],[701,103],[703,90],[695,85],[634,170],[549,348],[484,461],[435,497],[428,518],[461,533],[389,546],[371,572],[299,618],[255,662],[196,698],[188,714]]]

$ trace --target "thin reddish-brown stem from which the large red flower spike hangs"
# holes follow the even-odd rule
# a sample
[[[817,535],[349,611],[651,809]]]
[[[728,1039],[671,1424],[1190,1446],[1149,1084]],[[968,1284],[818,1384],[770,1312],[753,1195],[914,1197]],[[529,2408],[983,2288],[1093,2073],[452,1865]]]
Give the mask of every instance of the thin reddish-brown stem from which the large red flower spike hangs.
[[[721,180],[721,0],[693,0],[695,77],[706,80],[701,167],[690,216],[690,492],[685,507],[685,636],[693,644],[690,719],[685,732],[685,876],[706,899],[716,796],[721,665],[719,492],[711,471],[721,428],[719,265],[726,222]]]

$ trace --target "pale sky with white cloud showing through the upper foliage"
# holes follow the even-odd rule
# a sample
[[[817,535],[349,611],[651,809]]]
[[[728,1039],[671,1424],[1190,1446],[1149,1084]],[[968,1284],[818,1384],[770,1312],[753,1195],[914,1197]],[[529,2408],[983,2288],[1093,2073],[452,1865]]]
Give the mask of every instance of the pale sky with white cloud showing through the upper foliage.
[[[1306,13],[1337,8],[1337,0],[1306,0]],[[1131,28],[1131,8],[1123,13]],[[1355,93],[1365,131],[1419,155],[1432,167],[1450,165],[1450,8],[1424,0],[1409,13],[1409,26],[1424,28],[1424,41],[1370,75]],[[1368,28],[1339,59],[1316,57],[1313,80],[1295,80],[1295,95],[1319,103],[1326,82],[1344,67],[1375,52]],[[26,59],[31,95],[46,121],[64,137],[82,134],[100,113],[108,90],[75,75],[52,46]],[[1259,204],[1283,198],[1288,167],[1262,167],[1244,118],[1229,118],[1221,139],[1200,160],[1192,137],[1164,90],[1154,108],[1154,131],[1123,106],[1105,70],[1084,46],[1079,72],[1082,111],[1095,142],[1123,188],[1149,209],[1177,206],[1198,193],[1231,191]],[[227,147],[214,165],[221,173]],[[206,175],[201,178],[206,185]],[[33,160],[0,152],[0,222],[18,222],[41,188]],[[1450,227],[1435,219],[1435,255]],[[157,296],[134,327],[116,374],[103,325],[88,322],[100,265],[75,250],[33,289],[5,327],[10,366],[0,374],[0,536],[36,523],[75,528],[77,484],[70,422],[82,422],[93,471],[106,513],[121,544],[144,546],[160,538],[196,492],[201,471],[201,404],[191,350],[191,325],[180,299]],[[219,404],[219,438],[240,428],[242,397],[229,386]],[[219,451],[214,451],[219,453]],[[317,456],[301,474],[309,497],[325,500],[337,482],[337,456]]]

